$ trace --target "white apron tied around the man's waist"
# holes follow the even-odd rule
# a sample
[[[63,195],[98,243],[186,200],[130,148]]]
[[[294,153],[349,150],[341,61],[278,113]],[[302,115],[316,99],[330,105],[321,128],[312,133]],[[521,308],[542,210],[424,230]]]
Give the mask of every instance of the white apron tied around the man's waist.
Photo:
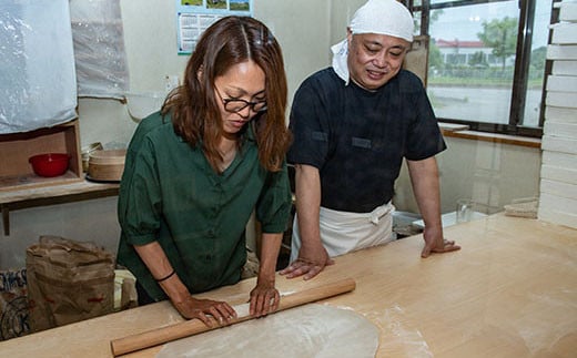
[[[340,212],[321,206],[318,215],[321,241],[328,256],[334,257],[392,242],[394,239],[394,211],[395,207],[391,202],[376,207],[371,213]],[[300,248],[301,236],[295,215],[291,243],[291,263],[298,257]]]

